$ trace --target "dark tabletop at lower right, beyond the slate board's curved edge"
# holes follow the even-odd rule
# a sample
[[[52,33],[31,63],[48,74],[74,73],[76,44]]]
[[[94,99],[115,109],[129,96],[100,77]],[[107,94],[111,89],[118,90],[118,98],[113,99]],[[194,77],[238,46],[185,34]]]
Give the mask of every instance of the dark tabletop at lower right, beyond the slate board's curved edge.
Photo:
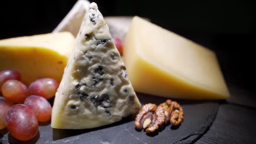
[[[195,144],[256,144],[255,109],[220,105],[215,121]]]

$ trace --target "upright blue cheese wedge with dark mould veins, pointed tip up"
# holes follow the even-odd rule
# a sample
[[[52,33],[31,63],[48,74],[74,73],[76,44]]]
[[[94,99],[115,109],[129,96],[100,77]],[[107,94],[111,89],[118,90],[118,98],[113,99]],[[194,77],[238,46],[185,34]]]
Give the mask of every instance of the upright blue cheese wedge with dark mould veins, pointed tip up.
[[[89,5],[53,105],[53,128],[95,128],[135,114],[141,104],[96,3]]]

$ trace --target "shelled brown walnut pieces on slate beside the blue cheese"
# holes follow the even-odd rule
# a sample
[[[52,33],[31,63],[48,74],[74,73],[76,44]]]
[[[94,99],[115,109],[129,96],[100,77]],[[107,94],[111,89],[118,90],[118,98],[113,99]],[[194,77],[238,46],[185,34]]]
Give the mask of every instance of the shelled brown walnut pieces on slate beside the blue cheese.
[[[176,102],[167,100],[158,107],[155,104],[148,103],[144,105],[135,118],[137,129],[146,129],[148,133],[158,130],[162,124],[179,125],[184,119],[183,108]]]

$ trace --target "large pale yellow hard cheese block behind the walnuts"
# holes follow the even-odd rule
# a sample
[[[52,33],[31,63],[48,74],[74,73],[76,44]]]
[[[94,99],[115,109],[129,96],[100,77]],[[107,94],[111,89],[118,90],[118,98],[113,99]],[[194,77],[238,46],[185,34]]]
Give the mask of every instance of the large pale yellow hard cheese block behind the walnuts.
[[[214,52],[135,16],[124,61],[136,92],[168,98],[230,96]]]

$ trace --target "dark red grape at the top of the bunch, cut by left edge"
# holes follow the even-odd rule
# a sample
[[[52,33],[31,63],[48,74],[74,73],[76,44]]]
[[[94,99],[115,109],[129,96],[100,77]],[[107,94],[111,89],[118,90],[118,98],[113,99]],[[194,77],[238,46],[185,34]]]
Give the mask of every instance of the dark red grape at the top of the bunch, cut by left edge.
[[[0,92],[1,92],[3,83],[10,79],[16,79],[20,81],[21,80],[20,72],[14,69],[5,69],[0,71]]]

